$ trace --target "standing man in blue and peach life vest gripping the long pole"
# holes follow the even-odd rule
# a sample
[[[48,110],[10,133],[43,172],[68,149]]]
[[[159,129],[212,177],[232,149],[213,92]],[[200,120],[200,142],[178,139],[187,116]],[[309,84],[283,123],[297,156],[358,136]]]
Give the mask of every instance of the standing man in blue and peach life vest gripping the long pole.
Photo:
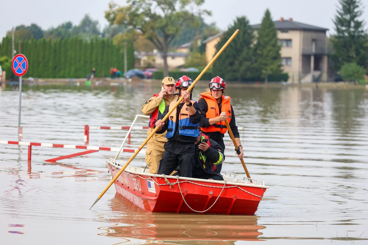
[[[183,96],[184,100],[170,114],[165,122],[162,118],[174,107],[177,101],[173,101],[165,108],[160,120],[156,122],[158,134],[167,130],[165,151],[163,153],[158,174],[169,175],[176,167],[180,168],[181,177],[192,177],[194,165],[195,142],[199,136],[198,125],[201,120],[199,105],[192,100],[192,91],[187,91],[193,83],[192,79],[182,76],[176,82],[176,92]]]

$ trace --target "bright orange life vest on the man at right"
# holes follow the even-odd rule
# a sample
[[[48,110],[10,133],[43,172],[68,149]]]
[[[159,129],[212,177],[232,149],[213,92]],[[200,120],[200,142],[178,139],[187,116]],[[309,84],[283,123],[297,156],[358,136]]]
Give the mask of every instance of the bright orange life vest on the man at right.
[[[208,110],[206,112],[206,118],[215,118],[220,115],[219,105],[217,104],[217,100],[212,97],[211,92],[201,93],[201,97],[199,100],[203,98],[208,105]],[[231,105],[230,105],[230,96],[222,96],[221,100],[221,112],[226,112],[227,122],[230,123],[231,120]],[[224,121],[218,122],[214,125],[210,125],[209,127],[201,127],[204,132],[220,132],[225,134],[227,131],[226,123]]]

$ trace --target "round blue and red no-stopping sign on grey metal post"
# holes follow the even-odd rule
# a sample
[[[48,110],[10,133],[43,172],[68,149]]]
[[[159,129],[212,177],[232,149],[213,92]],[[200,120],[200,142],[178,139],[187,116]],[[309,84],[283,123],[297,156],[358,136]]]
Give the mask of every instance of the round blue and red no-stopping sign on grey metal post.
[[[18,114],[18,137],[21,137],[21,109],[22,109],[22,76],[27,72],[28,61],[27,58],[22,54],[14,56],[11,62],[11,69],[14,74],[19,76],[19,114]]]

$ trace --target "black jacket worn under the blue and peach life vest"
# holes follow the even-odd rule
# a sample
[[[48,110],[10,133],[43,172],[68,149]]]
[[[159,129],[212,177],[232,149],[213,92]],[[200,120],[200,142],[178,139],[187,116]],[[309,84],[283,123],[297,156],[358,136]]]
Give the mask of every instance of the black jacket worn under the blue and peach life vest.
[[[177,122],[179,122],[179,114],[180,114],[180,110],[183,107],[183,105],[184,105],[184,103],[180,103],[178,105],[178,107],[176,108],[176,121]],[[167,112],[169,112],[169,106],[170,105],[168,105],[165,108],[165,110],[164,110],[164,112],[163,112],[160,119],[163,119],[164,116],[166,116]],[[201,108],[199,107],[197,102],[194,102],[193,107],[196,110],[196,112],[195,112],[194,115],[189,115],[189,120],[190,120],[191,123],[196,124],[196,123],[199,123],[199,121],[201,120]],[[156,134],[162,134],[167,130],[167,127],[169,125],[169,118],[167,118],[164,123],[165,124],[162,126],[162,129],[156,131]],[[179,123],[176,123],[175,129],[174,129],[174,136],[169,138],[169,141],[173,141],[173,142],[175,142],[175,144],[176,144],[176,142],[178,142],[180,144],[186,144],[186,143],[195,143],[197,141],[197,137],[180,135],[179,130],[178,130],[178,126],[179,126]]]

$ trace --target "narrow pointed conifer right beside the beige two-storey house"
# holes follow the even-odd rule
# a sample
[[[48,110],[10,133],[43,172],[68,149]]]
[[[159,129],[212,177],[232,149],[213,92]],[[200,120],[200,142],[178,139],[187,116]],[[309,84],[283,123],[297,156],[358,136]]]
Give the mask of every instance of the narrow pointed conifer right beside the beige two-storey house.
[[[256,67],[261,71],[261,78],[268,82],[270,74],[281,73],[281,46],[277,39],[277,30],[273,24],[270,11],[267,9],[258,29],[255,45]]]

